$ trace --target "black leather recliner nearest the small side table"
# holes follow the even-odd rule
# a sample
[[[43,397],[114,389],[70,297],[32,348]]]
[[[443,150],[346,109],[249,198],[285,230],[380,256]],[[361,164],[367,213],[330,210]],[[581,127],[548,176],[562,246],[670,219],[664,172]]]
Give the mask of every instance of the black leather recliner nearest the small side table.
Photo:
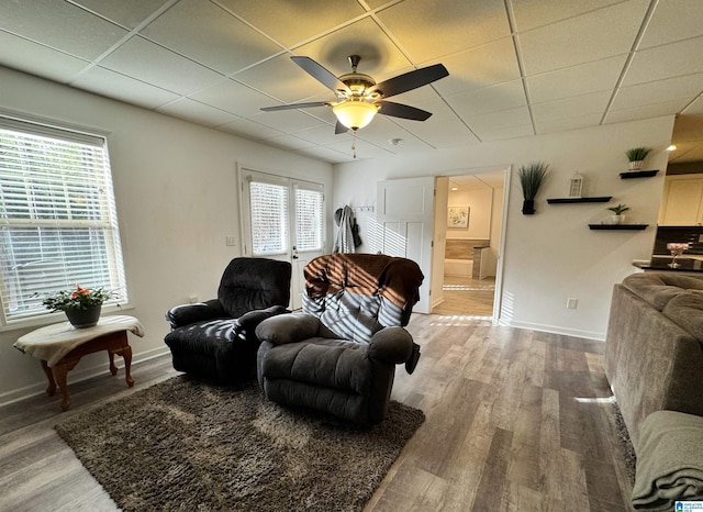
[[[288,312],[290,280],[288,261],[245,257],[230,261],[216,299],[177,305],[166,313],[171,332],[164,341],[174,368],[220,383],[254,379],[256,326]]]

